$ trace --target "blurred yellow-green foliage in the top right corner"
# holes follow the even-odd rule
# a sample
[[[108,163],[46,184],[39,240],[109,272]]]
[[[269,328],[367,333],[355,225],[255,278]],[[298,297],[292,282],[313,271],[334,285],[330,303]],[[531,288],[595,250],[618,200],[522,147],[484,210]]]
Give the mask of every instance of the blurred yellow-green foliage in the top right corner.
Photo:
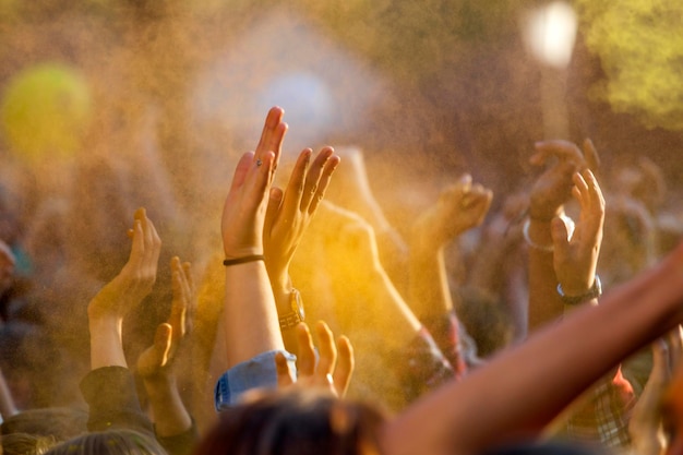
[[[607,75],[592,95],[649,128],[683,129],[683,2],[576,0]]]

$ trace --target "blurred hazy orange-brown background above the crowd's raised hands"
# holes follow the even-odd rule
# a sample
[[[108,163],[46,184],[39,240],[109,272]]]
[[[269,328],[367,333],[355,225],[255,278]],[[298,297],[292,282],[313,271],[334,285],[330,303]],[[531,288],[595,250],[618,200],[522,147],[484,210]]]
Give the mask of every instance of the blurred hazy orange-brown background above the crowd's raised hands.
[[[1,0],[3,178],[33,176],[40,199],[116,158],[196,209],[277,104],[287,152],[391,161],[402,184],[380,199],[463,171],[512,192],[551,136],[591,137],[603,170],[647,156],[675,189],[683,5],[612,3]]]

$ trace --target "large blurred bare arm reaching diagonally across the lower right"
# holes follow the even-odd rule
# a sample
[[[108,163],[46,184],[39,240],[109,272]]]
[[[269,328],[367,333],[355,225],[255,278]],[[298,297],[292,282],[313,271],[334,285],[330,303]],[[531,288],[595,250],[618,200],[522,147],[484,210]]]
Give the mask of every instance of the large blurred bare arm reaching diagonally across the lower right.
[[[678,263],[669,260],[422,399],[387,427],[386,453],[477,453],[537,435],[592,382],[681,321],[683,249],[675,254]]]

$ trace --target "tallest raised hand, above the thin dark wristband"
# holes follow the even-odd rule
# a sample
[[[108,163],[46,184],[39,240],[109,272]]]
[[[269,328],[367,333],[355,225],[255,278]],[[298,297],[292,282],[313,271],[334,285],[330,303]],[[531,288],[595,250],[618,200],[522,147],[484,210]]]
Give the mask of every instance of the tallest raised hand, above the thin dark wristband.
[[[267,194],[279,161],[287,123],[284,111],[268,111],[255,152],[242,155],[226,199],[220,231],[226,259],[263,254]]]

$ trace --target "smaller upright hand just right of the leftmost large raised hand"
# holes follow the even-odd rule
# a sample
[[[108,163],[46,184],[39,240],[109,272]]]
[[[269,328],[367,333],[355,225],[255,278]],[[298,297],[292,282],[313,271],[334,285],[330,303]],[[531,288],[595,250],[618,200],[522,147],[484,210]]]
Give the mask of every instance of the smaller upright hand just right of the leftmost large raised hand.
[[[192,330],[196,299],[191,265],[189,262],[181,263],[175,256],[170,267],[173,289],[170,315],[157,327],[154,344],[137,358],[137,373],[145,381],[171,374],[178,348]]]

